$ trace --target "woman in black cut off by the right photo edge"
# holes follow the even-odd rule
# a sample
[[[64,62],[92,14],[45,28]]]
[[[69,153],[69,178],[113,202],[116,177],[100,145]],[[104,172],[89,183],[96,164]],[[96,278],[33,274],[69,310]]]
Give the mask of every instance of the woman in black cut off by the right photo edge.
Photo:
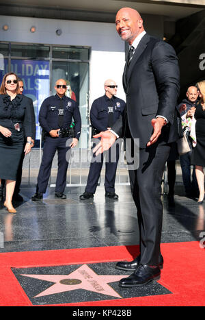
[[[195,133],[197,144],[191,154],[191,164],[195,165],[197,184],[200,190],[200,197],[197,201],[202,204],[204,201],[204,167],[205,167],[205,80],[197,83],[200,90],[201,101],[195,110]]]

